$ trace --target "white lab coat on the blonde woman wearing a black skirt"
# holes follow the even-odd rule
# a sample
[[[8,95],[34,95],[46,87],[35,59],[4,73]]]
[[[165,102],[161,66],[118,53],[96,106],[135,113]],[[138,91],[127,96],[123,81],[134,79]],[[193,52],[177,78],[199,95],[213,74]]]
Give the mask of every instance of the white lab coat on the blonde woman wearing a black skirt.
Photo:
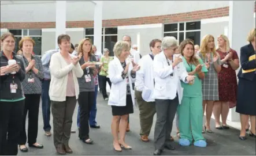
[[[125,60],[128,63],[128,60]],[[131,77],[132,63],[129,64],[128,78],[129,86],[131,88],[132,103],[135,105],[135,95],[132,89],[132,83],[135,82],[135,78]],[[123,67],[120,60],[114,56],[112,62],[109,63],[109,79],[112,82],[108,105],[125,106],[126,105],[126,91],[127,91],[127,79],[121,77]]]

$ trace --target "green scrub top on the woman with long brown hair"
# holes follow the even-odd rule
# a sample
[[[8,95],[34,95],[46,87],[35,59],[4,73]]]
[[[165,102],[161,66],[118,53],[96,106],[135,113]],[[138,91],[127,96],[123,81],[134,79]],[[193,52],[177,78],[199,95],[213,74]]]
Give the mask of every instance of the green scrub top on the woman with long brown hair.
[[[188,73],[195,70],[196,66],[194,64],[188,64],[187,60],[182,57],[185,69]],[[205,64],[203,61],[199,58],[200,64]],[[203,73],[207,73],[208,70],[206,69],[206,66],[204,65],[201,70]],[[202,96],[202,81],[199,79],[198,74],[195,74],[195,81],[193,85],[190,85],[188,83],[184,83],[181,81],[181,86],[184,88],[183,90],[183,96],[184,97],[199,97]]]

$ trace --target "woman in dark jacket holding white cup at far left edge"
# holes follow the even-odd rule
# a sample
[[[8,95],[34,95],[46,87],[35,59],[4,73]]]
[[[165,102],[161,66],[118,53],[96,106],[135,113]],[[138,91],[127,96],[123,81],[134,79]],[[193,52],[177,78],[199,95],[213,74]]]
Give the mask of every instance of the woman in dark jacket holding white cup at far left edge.
[[[0,155],[17,155],[22,127],[25,97],[21,81],[26,75],[23,58],[13,52],[15,40],[9,32],[1,36]]]

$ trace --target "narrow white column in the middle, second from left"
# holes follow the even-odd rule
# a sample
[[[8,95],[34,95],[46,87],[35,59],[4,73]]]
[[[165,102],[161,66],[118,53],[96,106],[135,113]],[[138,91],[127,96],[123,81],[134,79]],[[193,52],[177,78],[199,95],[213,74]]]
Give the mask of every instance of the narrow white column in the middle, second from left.
[[[94,45],[101,51],[102,37],[102,1],[94,1]]]

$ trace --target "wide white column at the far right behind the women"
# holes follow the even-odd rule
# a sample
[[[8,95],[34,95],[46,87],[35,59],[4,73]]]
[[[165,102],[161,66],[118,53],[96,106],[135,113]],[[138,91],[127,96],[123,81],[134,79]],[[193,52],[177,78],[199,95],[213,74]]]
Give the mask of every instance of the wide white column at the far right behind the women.
[[[229,1],[229,28],[228,37],[231,48],[238,52],[240,48],[248,44],[246,39],[248,32],[254,28],[254,1]],[[238,70],[237,70],[238,71]],[[240,121],[239,113],[235,108],[229,109],[229,121]]]

